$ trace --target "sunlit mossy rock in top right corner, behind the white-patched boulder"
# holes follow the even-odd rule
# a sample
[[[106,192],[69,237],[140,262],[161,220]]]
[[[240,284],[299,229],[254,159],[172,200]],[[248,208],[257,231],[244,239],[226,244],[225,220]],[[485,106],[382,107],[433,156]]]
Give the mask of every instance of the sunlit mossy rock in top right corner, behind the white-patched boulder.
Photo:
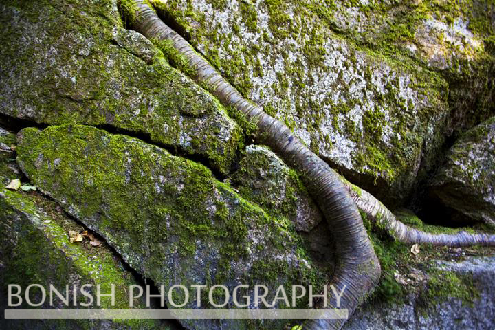
[[[493,1],[332,1],[330,8],[320,17],[345,38],[388,56],[404,54],[445,77],[448,134],[495,114]]]

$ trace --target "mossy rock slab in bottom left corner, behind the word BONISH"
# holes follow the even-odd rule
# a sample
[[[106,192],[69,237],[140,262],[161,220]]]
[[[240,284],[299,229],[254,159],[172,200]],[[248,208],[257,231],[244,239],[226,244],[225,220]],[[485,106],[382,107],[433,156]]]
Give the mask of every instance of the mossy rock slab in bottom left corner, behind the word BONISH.
[[[129,285],[137,285],[133,275],[123,269],[109,247],[104,244],[91,248],[89,242],[69,243],[67,230],[80,231],[81,226],[57,210],[56,203],[38,195],[0,188],[0,307],[33,308],[25,303],[8,307],[9,284],[20,285],[24,290],[33,283],[42,285],[47,292],[45,304],[39,308],[129,308]],[[107,294],[115,285],[115,305],[103,297],[100,307],[74,307],[74,302],[91,303],[79,292],[72,295],[73,285],[93,285],[89,292],[96,295],[96,285]],[[54,296],[50,305],[50,285],[65,294],[69,285],[69,307]],[[15,290],[14,290],[15,292]],[[33,290],[31,299],[38,303],[40,292]],[[22,294],[24,297],[24,295]],[[84,298],[84,297],[83,297]],[[13,299],[12,302],[17,303]],[[135,300],[135,308],[145,308],[144,302]],[[3,329],[168,329],[156,320],[2,320]]]

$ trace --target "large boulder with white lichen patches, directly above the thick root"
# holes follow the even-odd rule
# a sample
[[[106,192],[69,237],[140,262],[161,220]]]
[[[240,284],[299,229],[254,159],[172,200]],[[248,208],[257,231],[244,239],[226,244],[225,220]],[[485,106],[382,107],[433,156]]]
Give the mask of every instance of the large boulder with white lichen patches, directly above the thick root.
[[[315,1],[151,1],[244,96],[386,202],[431,168],[448,86],[334,34]],[[352,1],[355,2],[355,1]]]

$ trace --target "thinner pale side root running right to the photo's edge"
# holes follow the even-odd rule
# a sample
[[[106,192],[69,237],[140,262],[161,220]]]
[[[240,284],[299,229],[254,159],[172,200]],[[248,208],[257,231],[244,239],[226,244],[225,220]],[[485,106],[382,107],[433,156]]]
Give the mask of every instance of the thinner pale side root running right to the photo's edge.
[[[459,231],[456,234],[432,234],[417,230],[397,220],[395,215],[378,199],[349,181],[342,179],[358,208],[366,214],[378,228],[386,230],[394,239],[402,243],[424,243],[452,247],[485,245],[495,246],[495,235]]]

